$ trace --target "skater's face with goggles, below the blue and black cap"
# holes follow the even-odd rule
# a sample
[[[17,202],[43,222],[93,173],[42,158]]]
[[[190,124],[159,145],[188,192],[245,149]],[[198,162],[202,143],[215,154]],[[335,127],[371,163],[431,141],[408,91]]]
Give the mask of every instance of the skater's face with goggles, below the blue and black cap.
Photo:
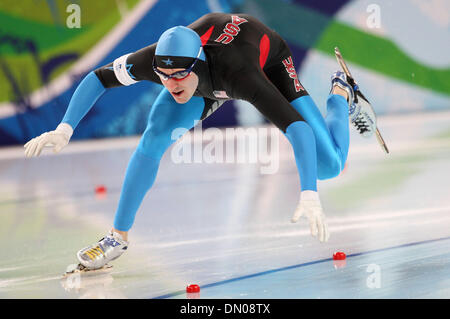
[[[158,70],[167,75],[171,75],[184,69],[158,68]],[[194,95],[195,90],[197,90],[198,76],[194,72],[190,72],[189,75],[183,79],[169,78],[165,80],[161,75],[159,75],[159,78],[161,79],[161,83],[170,92],[175,101],[180,104],[184,104],[189,101]]]

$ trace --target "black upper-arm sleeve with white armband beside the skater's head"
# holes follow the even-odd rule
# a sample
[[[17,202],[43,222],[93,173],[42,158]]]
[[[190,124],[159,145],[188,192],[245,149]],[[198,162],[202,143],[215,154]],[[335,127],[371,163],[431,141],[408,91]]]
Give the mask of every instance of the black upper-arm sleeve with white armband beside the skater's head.
[[[131,85],[142,80],[161,84],[152,66],[155,49],[156,43],[119,57],[115,62],[104,65],[94,72],[105,88]]]

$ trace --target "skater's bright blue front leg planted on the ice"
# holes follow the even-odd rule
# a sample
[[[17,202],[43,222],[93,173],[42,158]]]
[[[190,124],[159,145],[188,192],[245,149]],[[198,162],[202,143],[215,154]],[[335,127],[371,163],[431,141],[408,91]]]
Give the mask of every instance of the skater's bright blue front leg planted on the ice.
[[[132,227],[137,210],[156,178],[161,157],[174,142],[173,130],[192,128],[200,119],[204,105],[203,98],[195,96],[185,104],[177,104],[166,89],[156,99],[122,186],[114,220],[114,230],[122,236]]]

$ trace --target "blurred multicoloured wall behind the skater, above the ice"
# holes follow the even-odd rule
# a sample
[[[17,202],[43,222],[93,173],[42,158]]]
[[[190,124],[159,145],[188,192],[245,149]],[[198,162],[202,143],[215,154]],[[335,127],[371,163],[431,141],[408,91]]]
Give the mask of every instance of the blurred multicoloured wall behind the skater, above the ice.
[[[245,12],[280,33],[322,112],[335,46],[379,115],[450,109],[448,0],[2,0],[0,146],[53,130],[87,73],[208,12]],[[141,134],[161,89],[109,90],[73,139]],[[203,127],[261,123],[251,105],[231,101]]]

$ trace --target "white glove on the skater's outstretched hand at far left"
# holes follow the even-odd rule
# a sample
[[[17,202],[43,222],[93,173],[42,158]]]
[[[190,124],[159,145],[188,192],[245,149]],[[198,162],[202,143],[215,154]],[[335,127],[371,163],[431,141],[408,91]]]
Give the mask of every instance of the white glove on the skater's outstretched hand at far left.
[[[53,152],[58,153],[69,143],[72,134],[72,127],[67,123],[61,123],[56,130],[43,133],[28,141],[23,146],[25,147],[25,156],[39,156],[45,146],[53,147]]]

